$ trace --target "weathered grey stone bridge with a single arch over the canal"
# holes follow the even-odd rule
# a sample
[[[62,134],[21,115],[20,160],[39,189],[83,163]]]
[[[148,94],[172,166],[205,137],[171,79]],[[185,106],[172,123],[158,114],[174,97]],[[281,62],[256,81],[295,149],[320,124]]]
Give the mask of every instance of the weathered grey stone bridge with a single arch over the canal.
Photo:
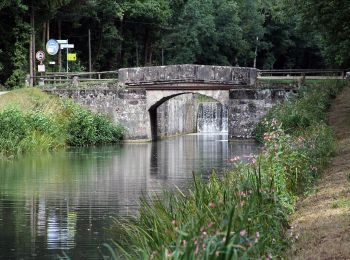
[[[193,97],[204,95],[228,110],[228,135],[235,139],[251,138],[260,119],[291,91],[262,87],[256,80],[253,68],[172,65],[120,69],[118,88],[53,92],[107,114],[126,127],[127,139],[148,140],[195,132]],[[170,117],[174,106],[178,112]]]

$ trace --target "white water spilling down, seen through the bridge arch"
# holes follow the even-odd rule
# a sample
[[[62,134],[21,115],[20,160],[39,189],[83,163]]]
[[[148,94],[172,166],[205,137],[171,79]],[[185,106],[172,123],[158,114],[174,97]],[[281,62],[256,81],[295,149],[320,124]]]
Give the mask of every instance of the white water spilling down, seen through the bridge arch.
[[[198,133],[227,133],[227,108],[218,102],[199,104],[197,115]]]

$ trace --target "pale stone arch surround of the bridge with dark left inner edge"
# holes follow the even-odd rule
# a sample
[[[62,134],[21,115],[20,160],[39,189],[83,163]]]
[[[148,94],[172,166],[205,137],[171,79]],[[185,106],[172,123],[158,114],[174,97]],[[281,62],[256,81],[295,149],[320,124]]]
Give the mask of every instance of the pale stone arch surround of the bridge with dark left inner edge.
[[[222,105],[228,107],[229,104],[229,91],[228,90],[193,90],[193,91],[183,91],[183,90],[175,90],[175,91],[162,91],[162,90],[151,90],[147,91],[146,99],[147,99],[147,110],[149,112],[150,118],[150,126],[151,133],[150,137],[153,141],[157,140],[157,108],[163,104],[164,102],[170,100],[179,95],[184,94],[201,94],[204,96],[211,97]]]

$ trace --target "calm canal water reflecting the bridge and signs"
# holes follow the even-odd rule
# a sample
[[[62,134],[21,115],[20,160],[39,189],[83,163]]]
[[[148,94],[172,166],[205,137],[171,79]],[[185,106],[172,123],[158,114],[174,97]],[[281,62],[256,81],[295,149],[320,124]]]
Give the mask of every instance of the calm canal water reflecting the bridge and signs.
[[[0,259],[102,259],[112,218],[137,214],[140,196],[186,189],[192,172],[220,173],[256,150],[193,134],[0,161]]]

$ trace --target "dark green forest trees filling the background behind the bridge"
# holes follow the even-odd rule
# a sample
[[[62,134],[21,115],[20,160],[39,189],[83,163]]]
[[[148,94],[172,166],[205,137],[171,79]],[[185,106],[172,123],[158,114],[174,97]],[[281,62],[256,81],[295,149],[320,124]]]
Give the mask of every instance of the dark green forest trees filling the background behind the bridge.
[[[346,68],[349,14],[346,0],[0,0],[0,84],[19,85],[30,48],[49,38],[73,43],[71,69],[87,70],[89,31],[94,71],[255,59],[260,69]]]

